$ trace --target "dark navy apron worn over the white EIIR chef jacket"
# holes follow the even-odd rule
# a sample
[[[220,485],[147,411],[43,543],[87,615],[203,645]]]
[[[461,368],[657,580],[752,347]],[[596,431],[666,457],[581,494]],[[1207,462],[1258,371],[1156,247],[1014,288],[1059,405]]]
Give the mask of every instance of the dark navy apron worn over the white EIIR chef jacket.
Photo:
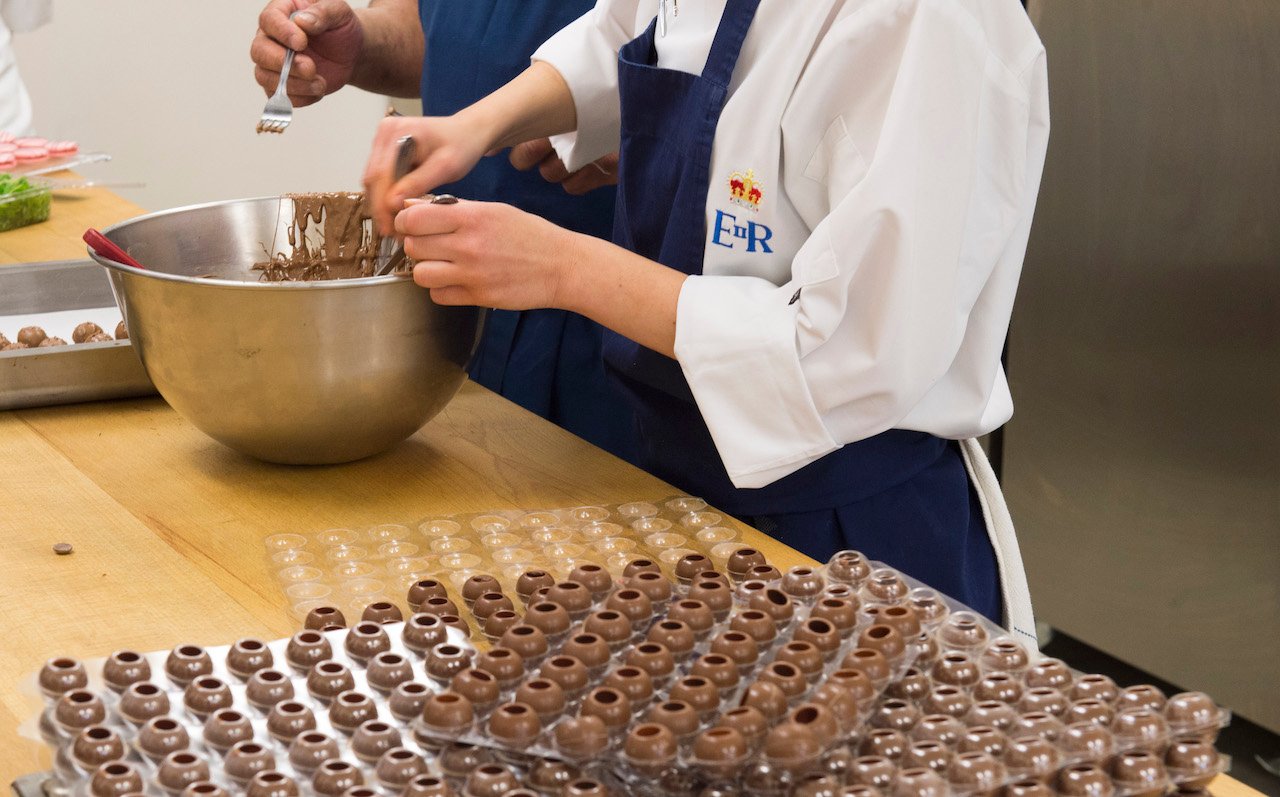
[[[618,54],[613,241],[685,274],[703,271],[712,142],[759,1],[728,0],[701,75],[657,67],[657,20]],[[995,550],[957,444],[890,430],[739,489],[680,366],[611,331],[604,354],[636,407],[643,467],[814,559],[861,550],[1000,622]]]

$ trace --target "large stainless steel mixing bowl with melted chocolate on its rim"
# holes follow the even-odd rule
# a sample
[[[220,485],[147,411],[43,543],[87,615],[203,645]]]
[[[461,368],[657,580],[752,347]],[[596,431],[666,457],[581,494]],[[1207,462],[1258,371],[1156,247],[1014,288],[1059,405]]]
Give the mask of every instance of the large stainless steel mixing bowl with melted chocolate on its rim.
[[[179,207],[104,230],[146,271],[90,255],[151,381],[201,431],[268,462],[376,454],[457,393],[480,311],[404,276],[257,281],[292,223],[287,197]]]

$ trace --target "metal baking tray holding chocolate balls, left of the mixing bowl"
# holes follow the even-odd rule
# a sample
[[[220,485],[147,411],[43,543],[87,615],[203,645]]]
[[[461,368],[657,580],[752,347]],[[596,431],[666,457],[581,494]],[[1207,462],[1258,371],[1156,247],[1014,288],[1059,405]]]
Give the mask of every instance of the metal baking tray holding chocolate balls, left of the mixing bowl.
[[[0,266],[0,316],[114,304],[106,271],[92,260]],[[128,340],[0,352],[0,409],[155,391]]]

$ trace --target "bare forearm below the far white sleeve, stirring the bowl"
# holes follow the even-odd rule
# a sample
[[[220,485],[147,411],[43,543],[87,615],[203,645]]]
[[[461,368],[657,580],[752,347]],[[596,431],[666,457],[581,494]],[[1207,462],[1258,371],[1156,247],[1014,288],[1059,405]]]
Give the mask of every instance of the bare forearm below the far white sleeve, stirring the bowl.
[[[504,150],[577,128],[568,84],[554,67],[543,61],[535,61],[458,116],[475,124],[485,137],[486,150]]]

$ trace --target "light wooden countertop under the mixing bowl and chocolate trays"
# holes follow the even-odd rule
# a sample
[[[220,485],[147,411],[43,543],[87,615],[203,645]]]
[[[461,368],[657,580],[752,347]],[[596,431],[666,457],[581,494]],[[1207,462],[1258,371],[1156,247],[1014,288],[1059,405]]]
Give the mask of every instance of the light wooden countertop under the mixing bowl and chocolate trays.
[[[83,257],[86,226],[140,212],[105,191],[56,197],[50,221],[0,233],[0,265]],[[40,705],[17,684],[45,659],[292,633],[296,620],[264,555],[270,533],[677,494],[470,383],[408,441],[338,467],[247,459],[160,399],[4,412],[0,441],[5,783],[49,766],[42,747],[17,733]],[[748,535],[780,568],[808,562]],[[76,553],[55,555],[56,542]],[[1230,778],[1213,791],[1257,794]]]

